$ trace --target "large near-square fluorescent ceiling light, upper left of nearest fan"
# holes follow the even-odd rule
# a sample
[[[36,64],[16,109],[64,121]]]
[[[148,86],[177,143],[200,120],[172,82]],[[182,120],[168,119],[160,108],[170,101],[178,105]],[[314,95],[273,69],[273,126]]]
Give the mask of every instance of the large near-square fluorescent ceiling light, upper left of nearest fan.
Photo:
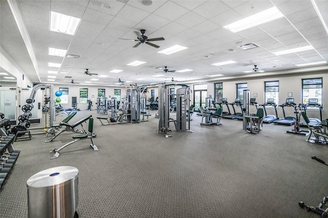
[[[54,11],[51,11],[50,16],[50,31],[75,35],[81,19]]]

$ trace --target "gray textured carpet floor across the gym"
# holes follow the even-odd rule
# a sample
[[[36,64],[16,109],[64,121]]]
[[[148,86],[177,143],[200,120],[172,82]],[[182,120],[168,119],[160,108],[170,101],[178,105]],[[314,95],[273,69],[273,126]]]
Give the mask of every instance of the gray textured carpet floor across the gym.
[[[78,112],[70,123],[95,118],[98,151],[87,139],[50,160],[72,133],[15,142],[21,152],[0,193],[0,217],[27,217],[27,180],[56,166],[79,170],[79,217],[319,217],[298,202],[317,206],[328,195],[328,166],[311,159],[328,162],[328,146],[284,133],[290,126],[264,124],[253,135],[242,121],[202,126],[195,114],[194,133],[165,138],[151,113],[147,122],[102,126],[95,111]]]

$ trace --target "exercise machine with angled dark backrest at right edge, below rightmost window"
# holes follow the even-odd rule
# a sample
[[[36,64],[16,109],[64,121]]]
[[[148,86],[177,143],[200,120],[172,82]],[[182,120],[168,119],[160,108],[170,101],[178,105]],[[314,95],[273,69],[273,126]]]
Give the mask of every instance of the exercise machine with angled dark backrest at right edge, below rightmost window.
[[[328,144],[328,134],[326,132],[326,129],[328,127],[328,121],[322,120],[319,125],[310,125],[310,119],[305,114],[305,112],[301,112],[301,115],[306,123],[306,126],[310,129],[310,134],[308,135],[308,138],[306,141],[315,143],[315,144]],[[314,138],[311,138],[312,134],[314,135]]]

